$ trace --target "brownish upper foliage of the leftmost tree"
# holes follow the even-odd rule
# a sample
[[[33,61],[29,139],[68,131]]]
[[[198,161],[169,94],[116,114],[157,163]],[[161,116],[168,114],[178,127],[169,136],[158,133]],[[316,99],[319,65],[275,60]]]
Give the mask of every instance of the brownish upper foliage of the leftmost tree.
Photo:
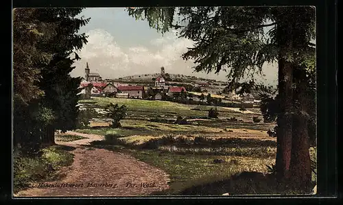
[[[27,104],[43,96],[37,83],[42,66],[49,64],[52,53],[37,48],[36,44],[49,38],[45,23],[36,20],[37,9],[15,9],[13,15],[13,87],[15,103]]]

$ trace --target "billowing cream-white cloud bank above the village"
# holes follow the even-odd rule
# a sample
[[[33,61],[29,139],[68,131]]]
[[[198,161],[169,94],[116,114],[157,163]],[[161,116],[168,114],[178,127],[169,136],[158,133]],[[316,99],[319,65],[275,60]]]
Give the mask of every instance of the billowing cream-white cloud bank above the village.
[[[206,74],[193,72],[193,62],[181,58],[187,47],[193,42],[186,38],[178,38],[177,31],[165,33],[164,36],[150,41],[150,44],[127,46],[126,42],[117,42],[115,36],[104,29],[93,29],[86,32],[88,43],[79,52],[80,61],[75,62],[71,72],[74,77],[84,76],[84,68],[88,62],[91,72],[98,72],[103,79],[117,79],[132,74],[150,74],[159,72],[161,66],[165,72],[173,74],[194,75],[209,79],[225,80],[226,73]],[[266,76],[261,81],[277,79],[274,66],[266,65]]]

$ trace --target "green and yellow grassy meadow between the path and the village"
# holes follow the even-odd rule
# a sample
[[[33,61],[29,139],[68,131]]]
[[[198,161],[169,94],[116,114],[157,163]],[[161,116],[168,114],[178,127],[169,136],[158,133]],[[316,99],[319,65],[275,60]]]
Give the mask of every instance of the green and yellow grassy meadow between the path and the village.
[[[263,119],[259,109],[241,112],[217,107],[219,118],[209,119],[206,117],[213,106],[123,98],[80,100],[86,109],[104,109],[110,102],[128,107],[120,128],[111,128],[106,115],[98,111],[88,128],[76,131],[105,136],[104,141],[94,141],[92,147],[126,152],[167,172],[170,189],[156,195],[239,195],[284,190],[259,180],[225,182],[241,172],[272,174],[267,165],[275,163],[276,138],[267,131],[275,124],[253,122],[253,117]],[[178,116],[186,118],[187,124],[173,123]],[[236,118],[237,122],[228,118]]]

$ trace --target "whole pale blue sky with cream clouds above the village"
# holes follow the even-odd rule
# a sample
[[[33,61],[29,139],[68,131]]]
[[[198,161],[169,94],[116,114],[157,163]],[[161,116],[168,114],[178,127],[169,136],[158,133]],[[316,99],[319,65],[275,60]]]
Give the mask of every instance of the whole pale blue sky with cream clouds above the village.
[[[81,59],[74,64],[73,77],[84,77],[88,62],[91,72],[99,73],[102,79],[157,73],[163,66],[171,74],[226,81],[224,71],[193,72],[193,61],[180,57],[193,42],[178,38],[175,30],[162,35],[151,29],[147,21],[129,16],[125,8],[86,8],[80,16],[91,20],[79,31],[86,33],[88,43],[78,52]],[[265,64],[263,74],[259,81],[276,85],[276,65]]]

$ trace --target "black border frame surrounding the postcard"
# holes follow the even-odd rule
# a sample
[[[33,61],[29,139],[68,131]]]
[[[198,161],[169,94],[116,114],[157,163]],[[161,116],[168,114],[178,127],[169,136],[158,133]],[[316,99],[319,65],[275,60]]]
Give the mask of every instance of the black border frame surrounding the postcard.
[[[338,1],[309,1],[309,0],[288,0],[288,1],[272,1],[272,0],[262,0],[262,1],[110,1],[110,0],[97,0],[97,1],[51,1],[51,0],[31,0],[31,1],[20,1],[16,0],[12,4],[12,8],[25,8],[25,7],[128,7],[128,6],[187,6],[187,5],[314,5],[316,6],[316,18],[317,18],[317,135],[318,135],[318,195],[321,195],[321,199],[318,199],[318,196],[312,198],[298,197],[294,198],[291,196],[285,197],[285,202],[293,203],[296,201],[302,200],[302,202],[332,202],[329,198],[342,197],[342,192],[338,193],[338,167],[337,167],[337,140],[338,140],[338,82],[336,78],[337,74],[337,52],[338,52],[338,35],[337,35],[337,26],[338,26]],[[12,9],[11,14],[12,16]],[[11,18],[12,19],[12,18]],[[12,28],[12,23],[11,23]],[[12,39],[12,32],[11,32]],[[12,42],[10,43],[12,51]],[[12,52],[10,68],[12,68]],[[4,78],[1,79],[1,103],[4,105],[1,107],[7,116],[5,118],[5,126],[7,128],[6,135],[3,137],[7,139],[8,143],[1,143],[1,146],[5,149],[5,155],[2,155],[5,159],[10,159],[8,162],[10,164],[5,166],[6,175],[1,177],[1,182],[5,182],[5,186],[0,187],[0,199],[1,201],[8,201],[12,198],[12,141],[8,135],[12,136],[12,69],[6,68],[3,69],[5,74],[1,75]],[[12,137],[11,137],[12,138]],[[3,149],[1,149],[3,150]],[[3,184],[3,183],[1,183]],[[194,196],[189,196],[191,200],[188,199],[188,196],[167,197],[168,202],[174,203],[177,202],[199,202],[199,197],[194,198]],[[187,198],[186,198],[187,197]],[[262,195],[259,197],[263,197]],[[269,196],[272,197],[272,196]],[[148,197],[149,198],[149,197]],[[166,197],[161,197],[166,198]],[[183,198],[183,199],[182,199]],[[204,197],[201,201],[206,203],[212,203],[214,200],[216,202],[251,202],[252,199],[246,197],[244,200],[234,199],[234,198],[222,198],[218,197],[217,199],[206,199]],[[44,202],[45,200],[32,200],[29,199],[29,202]],[[51,202],[58,202],[64,199],[61,197],[58,200],[49,200]],[[75,197],[73,202],[85,202],[86,199],[79,199]],[[102,202],[108,202],[106,197],[102,198]],[[152,199],[144,199],[145,202],[152,202]],[[255,202],[261,202],[263,199],[256,199]],[[270,199],[272,200],[272,199]],[[23,199],[12,199],[12,202],[28,202]],[[95,199],[89,198],[86,201],[94,202]],[[130,200],[132,201],[132,200]],[[143,202],[141,197],[134,198],[135,202]],[[274,200],[272,200],[274,201]],[[118,199],[117,202],[123,202],[123,200]],[[128,202],[128,200],[125,200]],[[280,202],[280,200],[278,200]],[[2,202],[1,202],[2,203]]]

